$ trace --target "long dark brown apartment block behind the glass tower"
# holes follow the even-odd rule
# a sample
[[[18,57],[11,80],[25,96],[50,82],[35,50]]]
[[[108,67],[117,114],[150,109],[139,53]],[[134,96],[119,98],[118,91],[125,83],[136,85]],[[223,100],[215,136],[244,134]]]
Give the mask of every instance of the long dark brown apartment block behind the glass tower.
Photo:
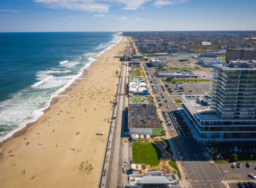
[[[226,62],[230,60],[245,59],[245,60],[255,60],[256,51],[255,50],[226,50]]]

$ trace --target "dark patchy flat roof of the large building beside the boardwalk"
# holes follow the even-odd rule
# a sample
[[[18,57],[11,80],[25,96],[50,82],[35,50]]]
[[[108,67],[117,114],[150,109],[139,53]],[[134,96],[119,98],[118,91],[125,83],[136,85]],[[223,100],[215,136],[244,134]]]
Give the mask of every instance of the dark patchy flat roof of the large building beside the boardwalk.
[[[146,123],[144,120],[145,117]],[[151,117],[151,118],[149,118]],[[161,128],[154,104],[129,104],[128,105],[128,128]]]

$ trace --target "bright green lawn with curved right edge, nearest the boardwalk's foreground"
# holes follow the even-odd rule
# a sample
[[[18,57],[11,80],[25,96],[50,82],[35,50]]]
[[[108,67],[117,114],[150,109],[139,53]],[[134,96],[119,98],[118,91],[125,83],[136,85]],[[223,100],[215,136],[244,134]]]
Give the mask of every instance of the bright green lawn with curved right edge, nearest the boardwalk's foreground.
[[[133,163],[145,163],[150,166],[157,166],[160,163],[161,150],[152,142],[133,142],[132,159]]]

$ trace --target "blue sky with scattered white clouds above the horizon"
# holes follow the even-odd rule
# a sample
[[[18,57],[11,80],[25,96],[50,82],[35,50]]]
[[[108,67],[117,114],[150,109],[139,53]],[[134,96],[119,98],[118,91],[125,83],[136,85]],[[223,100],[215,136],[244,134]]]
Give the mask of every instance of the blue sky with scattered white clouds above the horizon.
[[[1,0],[0,32],[256,30],[252,0]]]

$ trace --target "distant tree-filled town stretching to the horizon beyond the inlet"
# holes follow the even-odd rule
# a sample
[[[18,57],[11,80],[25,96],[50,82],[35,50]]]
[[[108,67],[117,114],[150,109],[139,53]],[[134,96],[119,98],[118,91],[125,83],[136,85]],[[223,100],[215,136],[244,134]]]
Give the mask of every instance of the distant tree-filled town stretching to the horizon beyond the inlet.
[[[123,35],[133,38],[138,51],[147,55],[256,47],[256,31],[147,31]]]

